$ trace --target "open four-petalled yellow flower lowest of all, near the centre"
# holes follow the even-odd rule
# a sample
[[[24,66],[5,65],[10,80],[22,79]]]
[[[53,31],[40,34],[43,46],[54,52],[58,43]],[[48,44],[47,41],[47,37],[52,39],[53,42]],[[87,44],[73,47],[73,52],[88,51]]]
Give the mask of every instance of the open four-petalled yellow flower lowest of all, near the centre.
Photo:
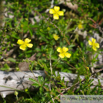
[[[67,52],[68,48],[66,47],[63,47],[63,48],[58,47],[57,51],[60,53],[59,54],[60,58],[64,58],[64,57],[70,58],[71,57],[71,54]]]

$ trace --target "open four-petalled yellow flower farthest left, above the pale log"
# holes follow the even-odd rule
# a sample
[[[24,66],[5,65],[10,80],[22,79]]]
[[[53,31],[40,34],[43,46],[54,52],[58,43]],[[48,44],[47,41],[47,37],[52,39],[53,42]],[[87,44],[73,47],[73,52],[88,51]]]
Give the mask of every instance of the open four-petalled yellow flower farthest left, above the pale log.
[[[32,48],[33,44],[29,43],[30,41],[31,41],[31,40],[28,39],[28,38],[26,38],[25,41],[22,41],[22,40],[19,39],[19,40],[17,41],[17,44],[20,45],[20,49],[21,49],[21,50],[25,50],[26,47]]]

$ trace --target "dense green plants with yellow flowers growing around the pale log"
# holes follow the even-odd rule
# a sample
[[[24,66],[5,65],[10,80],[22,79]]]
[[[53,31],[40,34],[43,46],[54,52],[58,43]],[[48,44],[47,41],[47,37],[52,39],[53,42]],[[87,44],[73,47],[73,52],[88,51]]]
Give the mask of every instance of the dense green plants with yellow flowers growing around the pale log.
[[[45,79],[30,78],[32,86],[38,88],[38,91],[30,92],[27,88],[24,92],[28,97],[20,97],[16,91],[15,103],[59,103],[60,95],[64,94],[103,94],[100,82],[91,89],[93,80],[90,80],[93,76],[90,68],[102,51],[100,44],[92,37],[93,30],[101,36],[99,29],[95,28],[98,23],[93,23],[93,20],[100,21],[103,15],[103,6],[98,1],[71,0],[72,4],[78,4],[76,11],[67,7],[68,2],[59,5],[59,0],[54,1],[52,8],[51,0],[6,2],[7,11],[12,10],[9,15],[13,18],[6,18],[5,26],[0,29],[0,57],[5,57],[5,64],[1,62],[0,65],[1,70],[8,68],[7,71],[10,71],[10,65],[6,62],[8,57],[5,55],[16,47],[9,58],[15,68],[23,59],[36,53],[36,60],[31,61],[29,69],[44,70],[46,74]],[[84,31],[89,34],[85,38],[87,45],[79,35]],[[93,58],[90,58],[91,54]],[[55,75],[55,71],[75,73],[77,79],[68,87],[59,73]],[[81,80],[80,75],[84,75],[85,79]]]

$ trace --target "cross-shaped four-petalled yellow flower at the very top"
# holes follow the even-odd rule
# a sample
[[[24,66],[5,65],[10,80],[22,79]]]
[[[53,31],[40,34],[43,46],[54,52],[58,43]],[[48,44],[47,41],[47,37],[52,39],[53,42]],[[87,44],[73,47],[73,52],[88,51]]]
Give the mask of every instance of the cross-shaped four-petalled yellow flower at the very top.
[[[59,11],[60,7],[59,6],[54,6],[54,9],[50,9],[49,13],[53,14],[53,18],[54,19],[59,19],[59,16],[63,16],[64,12],[63,11]]]

